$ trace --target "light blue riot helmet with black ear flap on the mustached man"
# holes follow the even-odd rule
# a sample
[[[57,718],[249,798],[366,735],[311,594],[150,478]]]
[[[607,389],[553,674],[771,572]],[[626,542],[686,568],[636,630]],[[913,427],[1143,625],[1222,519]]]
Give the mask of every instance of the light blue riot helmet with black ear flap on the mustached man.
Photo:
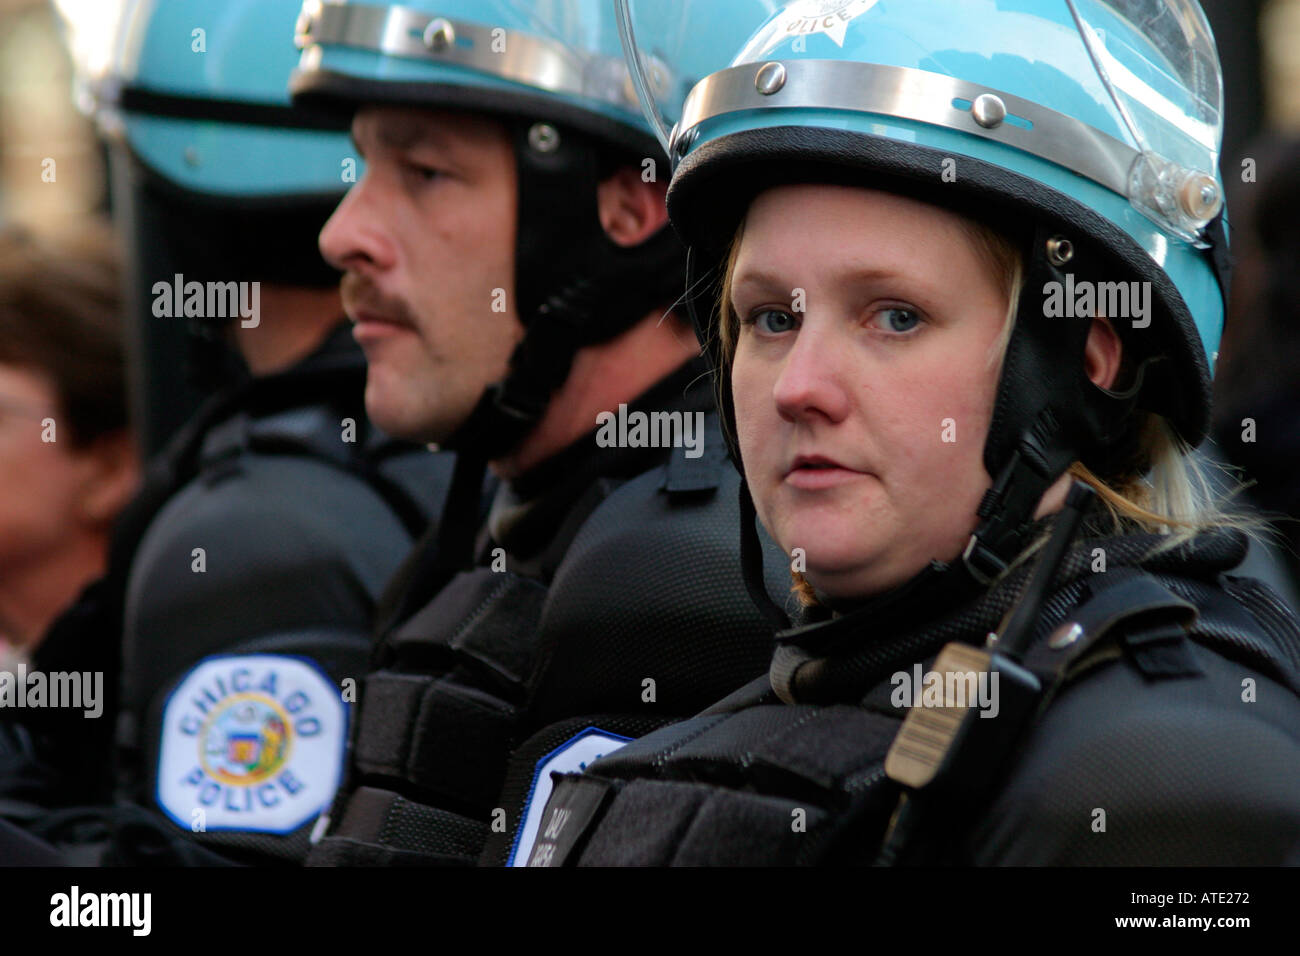
[[[771,1],[746,9],[771,12]],[[745,39],[736,21],[719,39]],[[619,165],[667,176],[607,0],[410,0],[303,5],[295,103],[350,117],[369,104],[469,111],[508,127],[519,172],[515,297],[525,334],[506,380],[447,445],[494,458],[526,434],[578,349],[614,338],[684,287],[671,229],[625,250],[597,185]]]

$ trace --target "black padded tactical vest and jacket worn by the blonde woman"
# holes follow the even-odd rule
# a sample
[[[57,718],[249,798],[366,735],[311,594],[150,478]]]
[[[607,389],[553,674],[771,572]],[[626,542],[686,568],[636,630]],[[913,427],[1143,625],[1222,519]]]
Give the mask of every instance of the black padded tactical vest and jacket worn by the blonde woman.
[[[1300,627],[1223,574],[1236,532],[1144,557],[1156,542],[1069,554],[1024,661],[1048,693],[979,800],[918,791],[901,834],[885,761],[924,704],[911,688],[944,645],[984,643],[1024,568],[923,627],[790,632],[771,679],[560,775],[529,865],[1282,862],[1300,845]]]

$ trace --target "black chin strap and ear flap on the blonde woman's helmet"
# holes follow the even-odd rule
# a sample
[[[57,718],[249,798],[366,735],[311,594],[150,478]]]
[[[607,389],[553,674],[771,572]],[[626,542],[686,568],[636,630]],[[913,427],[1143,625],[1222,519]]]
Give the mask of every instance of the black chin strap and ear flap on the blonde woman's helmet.
[[[1027,250],[1015,328],[1008,345],[984,445],[984,467],[994,481],[976,510],[979,524],[966,549],[957,561],[933,561],[897,588],[857,604],[844,617],[879,628],[883,620],[900,613],[932,617],[983,591],[1028,544],[1026,532],[1034,523],[1044,493],[1070,464],[1083,460],[1096,466],[1106,460],[1108,449],[1123,438],[1123,423],[1132,412],[1139,388],[1113,393],[1091,382],[1084,367],[1091,317],[1044,315],[1044,287],[1049,282],[1065,284],[1063,265],[1074,263],[1089,273],[1096,268],[1078,243],[1072,258],[1052,261],[1048,250],[1060,248],[1053,242],[1057,238],[1049,230],[1036,229],[1032,246]],[[789,652],[792,648],[788,645],[797,644],[807,628],[788,630],[789,619],[763,587],[754,515],[749,489],[742,481],[741,563],[745,584],[750,598],[781,632],[777,635],[781,650]],[[781,670],[786,674],[785,683],[792,683],[797,666],[786,661]],[[783,692],[780,687],[776,689]],[[790,692],[789,687],[786,692]]]

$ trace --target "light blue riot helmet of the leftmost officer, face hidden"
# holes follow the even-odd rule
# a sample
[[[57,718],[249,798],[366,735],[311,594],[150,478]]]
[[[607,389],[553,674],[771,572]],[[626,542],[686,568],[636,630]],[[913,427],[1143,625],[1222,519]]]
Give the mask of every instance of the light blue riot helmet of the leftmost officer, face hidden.
[[[174,286],[335,285],[316,237],[359,160],[337,124],[289,99],[296,0],[120,7],[83,88],[130,245],[133,390],[152,451],[238,364],[222,343],[229,310],[179,315]],[[172,308],[157,308],[164,285]]]

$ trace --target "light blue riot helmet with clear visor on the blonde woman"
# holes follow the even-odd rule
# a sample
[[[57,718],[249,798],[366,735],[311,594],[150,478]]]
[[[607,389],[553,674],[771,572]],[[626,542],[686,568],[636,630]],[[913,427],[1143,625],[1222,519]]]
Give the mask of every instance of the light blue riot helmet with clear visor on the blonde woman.
[[[694,69],[680,65],[716,49],[697,25],[719,4],[618,5],[634,85],[672,156],[670,216],[690,247],[690,304],[715,365],[716,280],[770,186],[870,183],[1017,233],[1024,282],[984,447],[993,488],[959,562],[970,580],[1018,554],[1074,460],[1101,477],[1140,473],[1135,412],[1201,441],[1227,229],[1222,77],[1195,0],[794,0],[753,20],[689,88],[679,77]],[[1046,284],[1075,278],[1149,284],[1145,321],[1115,324],[1123,392],[1087,380],[1088,321],[1043,319]],[[729,389],[720,395],[732,420]]]

